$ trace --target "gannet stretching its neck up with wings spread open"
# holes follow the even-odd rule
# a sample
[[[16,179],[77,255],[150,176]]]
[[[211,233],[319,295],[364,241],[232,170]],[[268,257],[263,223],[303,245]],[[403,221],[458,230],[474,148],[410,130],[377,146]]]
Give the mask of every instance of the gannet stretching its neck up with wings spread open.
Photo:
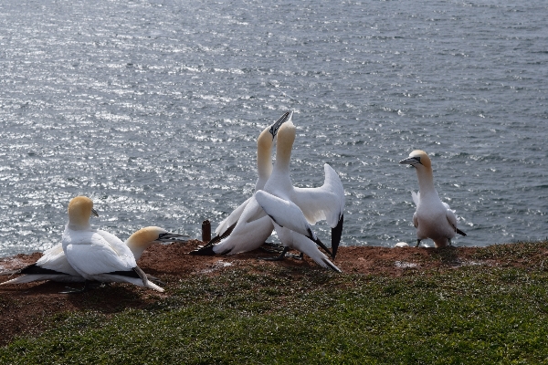
[[[279,128],[276,162],[263,191],[255,194],[258,204],[269,214],[279,240],[285,246],[311,256],[321,266],[341,271],[323,255],[317,245],[332,257],[336,255],[342,235],[344,190],[337,172],[324,165],[325,181],[319,188],[296,188],[290,178],[290,159],[296,128],[289,120]],[[311,231],[311,224],[326,219],[332,227],[332,253]]]

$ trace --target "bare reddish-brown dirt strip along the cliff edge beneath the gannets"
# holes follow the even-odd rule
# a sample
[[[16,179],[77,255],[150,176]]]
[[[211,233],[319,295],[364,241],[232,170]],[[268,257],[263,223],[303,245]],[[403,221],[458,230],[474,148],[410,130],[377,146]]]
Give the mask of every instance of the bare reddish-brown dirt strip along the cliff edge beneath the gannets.
[[[273,254],[256,250],[240,255],[197,256],[188,255],[201,241],[152,245],[142,255],[138,265],[142,270],[157,276],[166,283],[164,293],[127,284],[112,284],[109,287],[91,290],[81,294],[60,294],[67,284],[39,281],[20,285],[0,286],[0,346],[9,343],[18,335],[37,334],[47,323],[45,318],[67,312],[98,310],[109,314],[123,308],[142,308],[162,297],[170,295],[170,286],[180,280],[200,275],[222,275],[235,267],[252,265],[300,266],[311,270],[324,270],[309,257],[302,260],[264,261],[259,257]],[[524,260],[505,261],[475,259],[475,247],[436,248],[384,248],[384,247],[340,247],[335,265],[343,273],[374,276],[401,276],[410,272],[424,272],[432,269],[450,270],[459,266],[524,266],[533,262],[543,265],[545,253]],[[16,255],[0,258],[0,272],[18,269],[33,264],[41,256]],[[344,274],[342,274],[344,275]],[[9,276],[0,274],[0,282]],[[72,284],[81,287],[81,284]]]

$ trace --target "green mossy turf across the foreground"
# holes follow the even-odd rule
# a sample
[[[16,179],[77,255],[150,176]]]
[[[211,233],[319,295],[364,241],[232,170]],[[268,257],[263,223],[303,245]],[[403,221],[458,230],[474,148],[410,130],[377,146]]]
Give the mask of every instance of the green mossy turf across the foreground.
[[[546,246],[477,256],[522,260]],[[400,277],[251,265],[183,280],[148,308],[49,318],[39,337],[0,349],[0,362],[548,363],[547,283],[543,262]]]

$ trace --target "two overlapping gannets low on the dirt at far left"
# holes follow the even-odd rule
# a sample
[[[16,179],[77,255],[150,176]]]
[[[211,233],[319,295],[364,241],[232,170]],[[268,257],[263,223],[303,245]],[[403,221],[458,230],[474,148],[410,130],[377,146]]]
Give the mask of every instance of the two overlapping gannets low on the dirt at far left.
[[[63,242],[48,249],[35,264],[13,272],[23,276],[1,285],[38,280],[100,281],[132,283],[163,291],[150,281],[155,279],[153,276],[142,273],[136,261],[150,245],[184,240],[185,236],[149,226],[138,230],[122,243],[115,235],[91,228],[91,214],[98,216],[89,198],[78,196],[72,199],[68,204],[68,224],[63,233]],[[65,251],[67,249],[68,253]]]

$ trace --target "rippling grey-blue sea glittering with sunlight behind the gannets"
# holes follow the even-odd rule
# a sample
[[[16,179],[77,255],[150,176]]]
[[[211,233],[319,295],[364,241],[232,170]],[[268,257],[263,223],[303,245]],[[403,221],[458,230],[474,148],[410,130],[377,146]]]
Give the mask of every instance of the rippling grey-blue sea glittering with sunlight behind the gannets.
[[[286,110],[293,183],[341,176],[342,245],[415,241],[414,149],[455,245],[544,239],[548,3],[508,3],[4,1],[0,256],[60,242],[78,194],[122,240],[200,237],[253,192],[258,133]]]

